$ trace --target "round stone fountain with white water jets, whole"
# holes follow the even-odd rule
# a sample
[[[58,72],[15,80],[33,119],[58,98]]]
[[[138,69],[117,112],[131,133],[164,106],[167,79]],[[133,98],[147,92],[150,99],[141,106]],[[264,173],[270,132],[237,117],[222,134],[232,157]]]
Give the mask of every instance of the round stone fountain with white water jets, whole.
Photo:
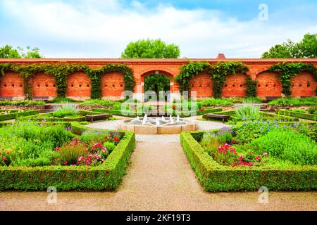
[[[117,129],[124,131],[135,131],[135,134],[180,134],[181,131],[195,131],[198,129],[197,122],[177,117],[136,117],[134,119],[122,120]]]

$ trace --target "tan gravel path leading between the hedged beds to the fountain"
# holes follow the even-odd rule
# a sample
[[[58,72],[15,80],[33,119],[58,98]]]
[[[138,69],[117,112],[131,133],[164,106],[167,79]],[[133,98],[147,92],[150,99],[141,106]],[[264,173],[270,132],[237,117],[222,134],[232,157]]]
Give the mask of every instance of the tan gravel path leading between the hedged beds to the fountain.
[[[91,125],[96,124],[101,123]],[[211,126],[201,124],[201,128]],[[178,134],[136,139],[137,148],[118,191],[58,192],[56,204],[46,202],[44,191],[4,192],[0,210],[317,210],[316,191],[270,192],[268,204],[258,202],[257,192],[203,191]]]

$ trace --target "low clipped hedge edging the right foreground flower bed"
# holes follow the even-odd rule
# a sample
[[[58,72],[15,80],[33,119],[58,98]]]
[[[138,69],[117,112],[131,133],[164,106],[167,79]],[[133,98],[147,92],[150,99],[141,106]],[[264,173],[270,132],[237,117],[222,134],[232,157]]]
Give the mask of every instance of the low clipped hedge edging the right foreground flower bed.
[[[180,142],[190,165],[206,191],[308,191],[317,189],[317,166],[225,167],[208,155],[200,144],[202,132],[182,132]]]

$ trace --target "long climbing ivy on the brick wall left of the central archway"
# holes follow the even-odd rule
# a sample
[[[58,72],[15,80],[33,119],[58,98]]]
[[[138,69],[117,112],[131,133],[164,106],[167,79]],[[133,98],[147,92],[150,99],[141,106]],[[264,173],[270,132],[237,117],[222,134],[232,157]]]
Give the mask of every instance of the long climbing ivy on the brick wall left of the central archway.
[[[133,91],[135,87],[135,80],[132,70],[128,65],[123,64],[108,64],[98,69],[89,68],[87,65],[73,65],[73,64],[30,64],[30,65],[14,65],[14,64],[0,64],[0,75],[4,75],[5,70],[13,70],[18,72],[23,77],[25,98],[32,98],[32,86],[30,78],[37,74],[37,72],[44,72],[47,75],[54,77],[57,86],[57,96],[66,96],[66,79],[68,75],[74,72],[85,72],[92,82],[91,98],[101,97],[101,75],[106,72],[120,72],[123,74],[125,81],[125,90]]]

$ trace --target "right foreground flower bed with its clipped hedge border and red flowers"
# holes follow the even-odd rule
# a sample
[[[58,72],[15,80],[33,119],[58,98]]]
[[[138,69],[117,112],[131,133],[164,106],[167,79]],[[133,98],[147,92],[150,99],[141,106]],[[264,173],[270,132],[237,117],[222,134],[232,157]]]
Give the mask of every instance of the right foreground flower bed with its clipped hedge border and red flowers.
[[[316,190],[316,124],[258,122],[181,133],[182,148],[204,189]]]

